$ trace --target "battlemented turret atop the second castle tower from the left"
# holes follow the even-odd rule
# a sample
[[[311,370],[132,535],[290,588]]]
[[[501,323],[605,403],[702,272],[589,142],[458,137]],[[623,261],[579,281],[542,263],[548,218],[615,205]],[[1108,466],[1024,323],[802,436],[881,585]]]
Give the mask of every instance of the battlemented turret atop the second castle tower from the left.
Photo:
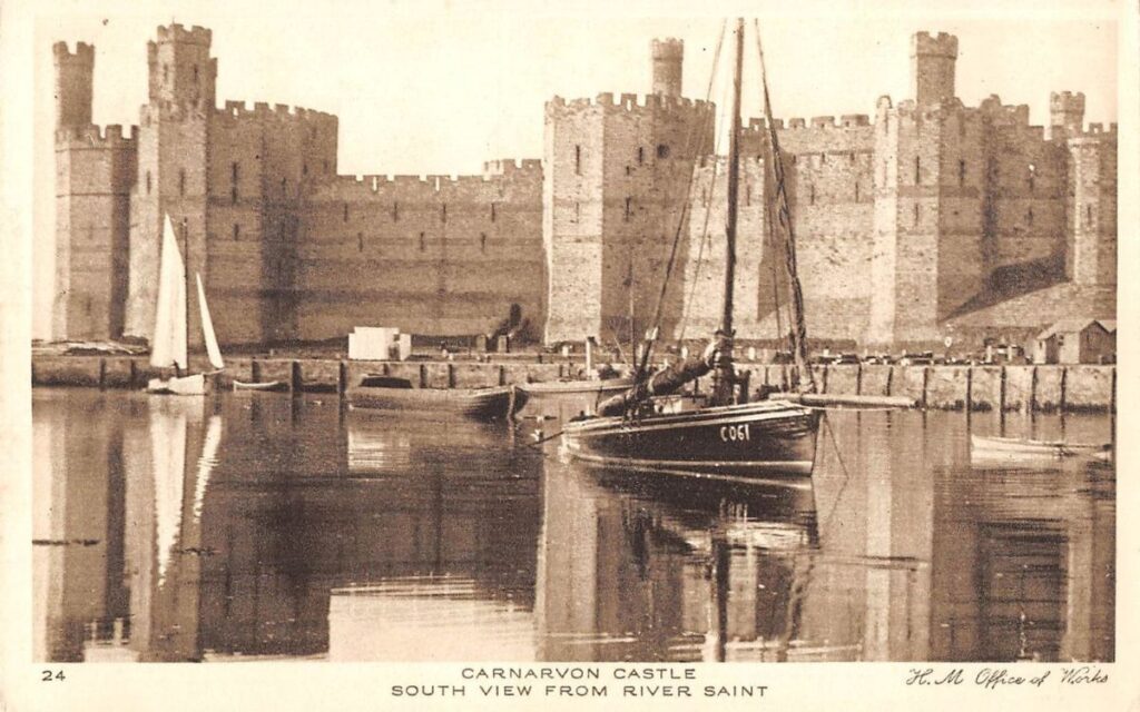
[[[210,57],[210,41],[204,27],[158,27],[157,41],[147,43],[152,103],[214,105],[218,60]]]

